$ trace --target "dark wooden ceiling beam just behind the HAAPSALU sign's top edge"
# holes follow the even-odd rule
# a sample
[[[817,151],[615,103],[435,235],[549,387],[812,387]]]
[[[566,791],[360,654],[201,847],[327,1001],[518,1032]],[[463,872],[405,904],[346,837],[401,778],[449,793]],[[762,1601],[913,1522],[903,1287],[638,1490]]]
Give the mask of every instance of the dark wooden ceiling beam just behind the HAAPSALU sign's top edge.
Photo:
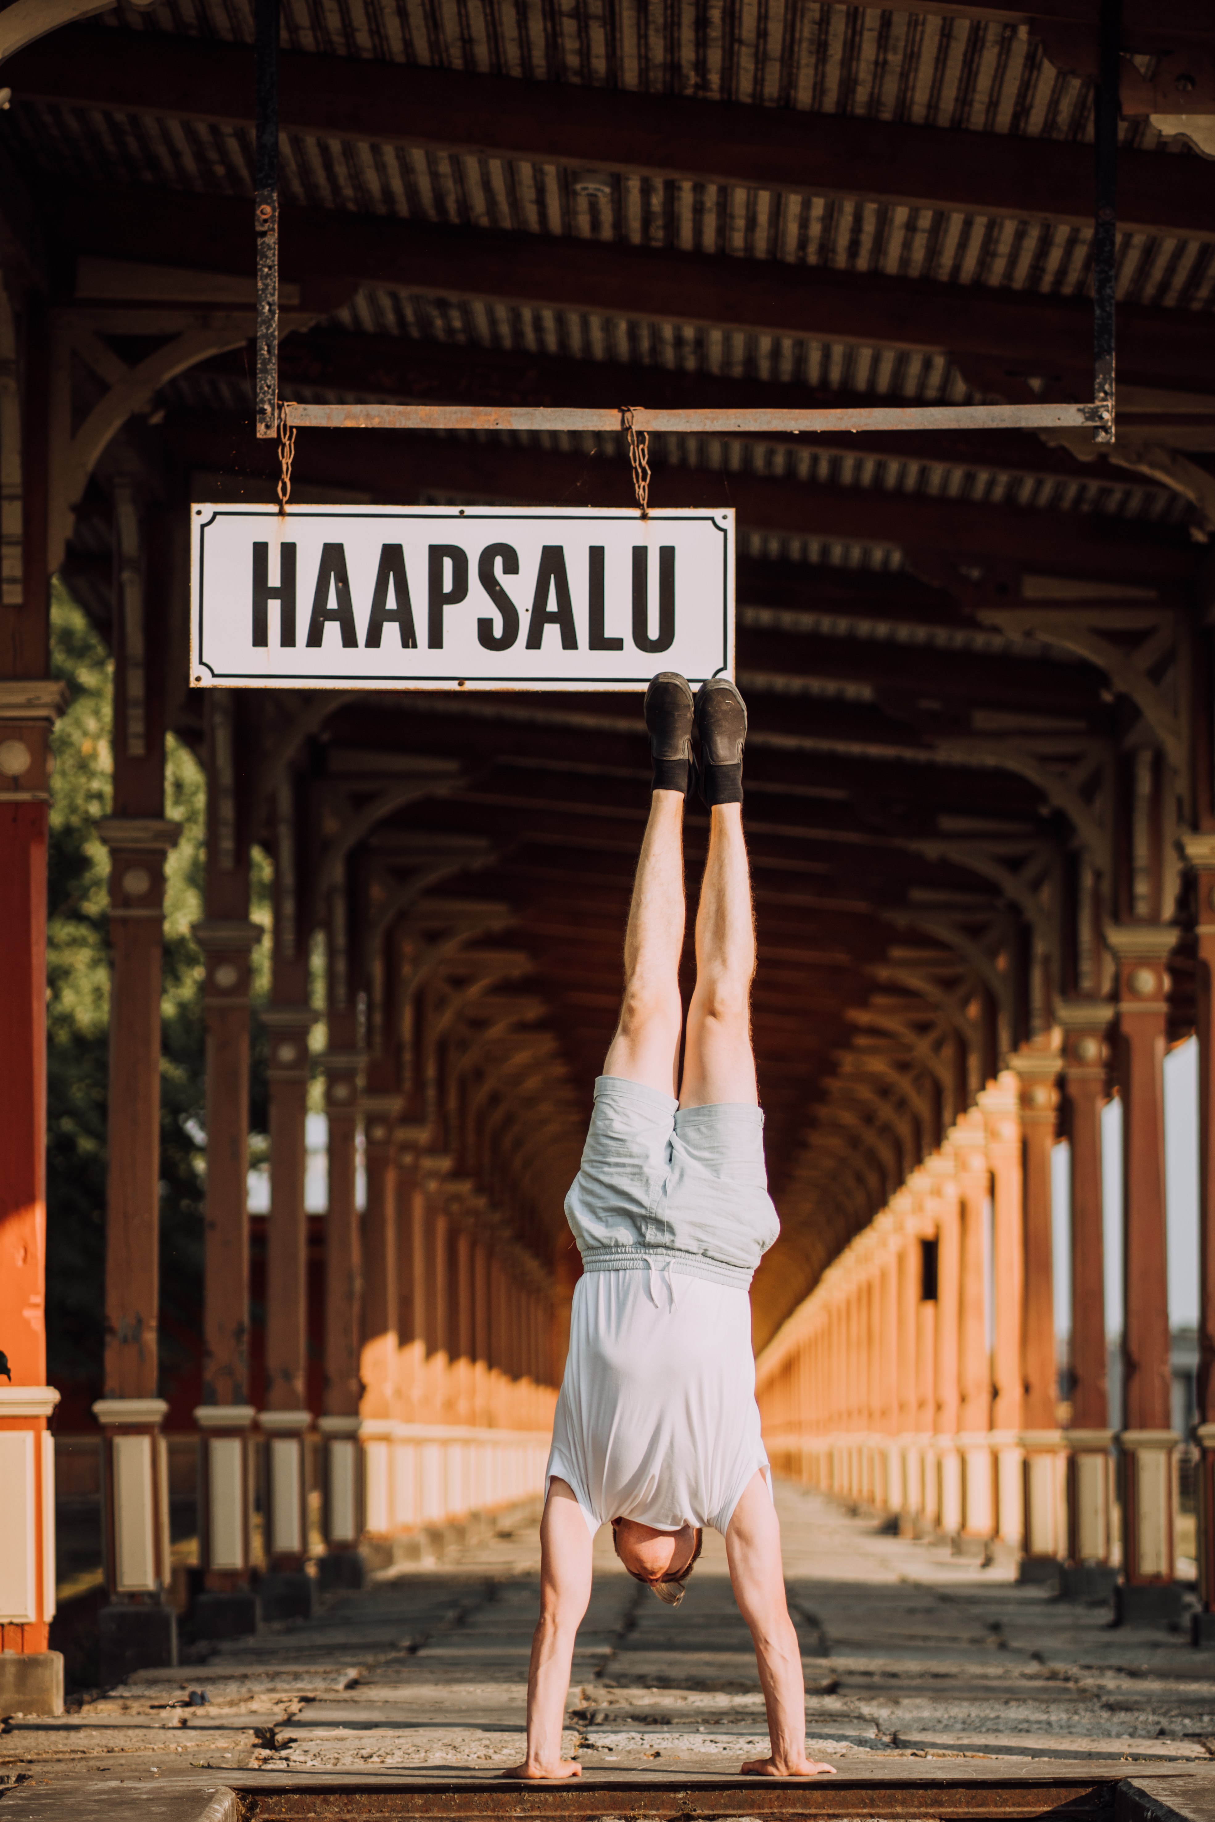
[[[1215,346],[1215,337],[1211,339]],[[195,468],[275,476],[279,452],[259,443],[251,423],[213,412],[173,412],[168,435]],[[428,434],[381,430],[301,432],[295,479],[366,490],[379,499],[419,494],[517,505],[630,507],[632,476],[618,437],[603,439],[603,459],[508,443],[472,443]],[[738,508],[740,532],[774,532],[856,545],[934,550],[947,561],[987,559],[1049,574],[1160,587],[1188,581],[1197,548],[1180,527],[1111,514],[1057,512],[904,494],[885,488],[831,486],[714,468],[659,466],[652,507]]]

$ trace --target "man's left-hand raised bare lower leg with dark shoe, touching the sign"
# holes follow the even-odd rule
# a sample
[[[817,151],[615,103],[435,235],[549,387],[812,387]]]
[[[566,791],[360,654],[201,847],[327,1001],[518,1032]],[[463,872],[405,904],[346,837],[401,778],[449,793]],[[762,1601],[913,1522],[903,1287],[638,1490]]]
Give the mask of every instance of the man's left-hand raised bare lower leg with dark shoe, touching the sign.
[[[678,1095],[683,800],[692,765],[692,691],[685,678],[669,670],[654,678],[645,692],[645,725],[654,756],[654,794],[628,906],[625,998],[603,1073]]]

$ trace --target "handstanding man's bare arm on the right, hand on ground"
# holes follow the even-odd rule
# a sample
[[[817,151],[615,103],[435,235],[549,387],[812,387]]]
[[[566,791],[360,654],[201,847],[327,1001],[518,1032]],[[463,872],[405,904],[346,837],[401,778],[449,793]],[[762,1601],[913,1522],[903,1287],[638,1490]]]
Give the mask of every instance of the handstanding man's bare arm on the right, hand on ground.
[[[780,1523],[763,1474],[756,1472],[734,1507],[725,1554],[738,1611],[750,1627],[769,1718],[769,1758],[752,1758],[743,1771],[765,1778],[809,1778],[834,1766],[805,1756],[805,1684],[801,1651],[785,1602],[780,1561]]]

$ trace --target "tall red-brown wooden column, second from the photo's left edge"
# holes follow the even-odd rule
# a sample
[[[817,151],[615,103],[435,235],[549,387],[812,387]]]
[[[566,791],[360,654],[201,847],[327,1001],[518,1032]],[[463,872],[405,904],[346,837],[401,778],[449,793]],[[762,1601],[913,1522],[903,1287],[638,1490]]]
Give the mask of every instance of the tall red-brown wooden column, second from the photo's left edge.
[[[164,649],[175,607],[168,527],[151,548],[131,485],[115,481],[113,814],[109,849],[109,1130],[106,1197],[106,1392],[102,1425],[107,1607],[102,1676],[177,1663],[169,1583],[168,1458],[158,1397],[160,1305],[160,947],[164,856]]]

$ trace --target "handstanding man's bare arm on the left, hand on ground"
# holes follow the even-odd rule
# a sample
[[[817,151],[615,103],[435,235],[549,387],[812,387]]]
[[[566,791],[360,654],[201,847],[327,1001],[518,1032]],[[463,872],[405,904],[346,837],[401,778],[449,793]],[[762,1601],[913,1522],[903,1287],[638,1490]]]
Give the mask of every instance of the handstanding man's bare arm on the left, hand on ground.
[[[528,1671],[528,1751],[508,1778],[581,1778],[574,1758],[561,1758],[565,1696],[574,1665],[574,1640],[590,1603],[590,1532],[577,1500],[552,1479],[539,1523],[541,1596]]]

